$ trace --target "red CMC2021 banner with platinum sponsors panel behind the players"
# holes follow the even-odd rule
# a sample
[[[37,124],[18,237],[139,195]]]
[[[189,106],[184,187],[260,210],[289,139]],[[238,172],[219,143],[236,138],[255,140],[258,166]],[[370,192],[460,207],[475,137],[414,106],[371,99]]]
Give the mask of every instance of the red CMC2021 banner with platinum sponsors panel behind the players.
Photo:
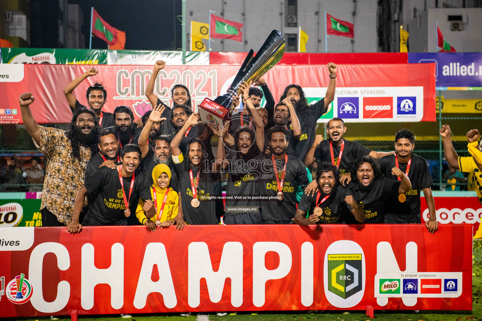
[[[86,65],[0,64],[0,124],[21,124],[18,98],[31,92],[31,111],[38,123],[68,123],[71,112],[63,88],[81,75]],[[102,81],[107,90],[104,110],[118,105],[133,109],[138,118],[152,108],[144,92],[152,75],[147,65],[97,65],[99,73],[82,82],[75,97],[82,104],[86,89]],[[171,104],[171,89],[187,86],[195,105],[206,97],[226,93],[239,66],[167,65],[156,79],[154,93]],[[275,101],[289,84],[304,88],[308,102],[325,95],[330,77],[326,65],[276,65],[264,76]],[[335,101],[319,122],[341,117],[346,122],[435,121],[435,64],[339,64]]]

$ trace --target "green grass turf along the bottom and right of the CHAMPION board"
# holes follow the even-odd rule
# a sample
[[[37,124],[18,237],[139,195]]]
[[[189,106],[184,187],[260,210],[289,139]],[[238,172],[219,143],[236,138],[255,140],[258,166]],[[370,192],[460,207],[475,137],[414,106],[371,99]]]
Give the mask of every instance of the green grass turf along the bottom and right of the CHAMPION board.
[[[470,311],[380,311],[375,310],[376,321],[465,321],[465,320],[482,320],[482,241],[474,241],[473,251],[473,279],[472,279],[472,297],[473,310]],[[291,312],[291,311],[290,311]],[[305,312],[305,311],[303,311]],[[369,317],[361,311],[347,311],[350,314],[343,314],[343,311],[318,311],[318,313],[307,314],[294,311],[280,311],[278,313],[259,313],[251,315],[247,312],[240,312],[238,315],[226,315],[219,317],[217,315],[209,315],[211,321],[364,321]],[[61,317],[67,318],[67,317]],[[70,319],[70,318],[68,318]],[[197,313],[190,317],[180,317],[170,314],[152,314],[152,315],[134,315],[132,319],[122,319],[119,315],[103,315],[103,316],[80,316],[80,321],[195,321]],[[0,321],[21,320],[21,321],[44,321],[50,320],[46,317],[32,318],[3,318]]]

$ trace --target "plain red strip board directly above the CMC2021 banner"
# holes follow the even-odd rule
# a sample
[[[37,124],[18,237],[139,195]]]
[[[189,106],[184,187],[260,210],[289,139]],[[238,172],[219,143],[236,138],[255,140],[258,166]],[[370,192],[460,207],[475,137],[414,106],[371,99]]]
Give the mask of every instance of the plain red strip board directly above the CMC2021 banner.
[[[210,52],[209,64],[242,64],[247,52]],[[406,52],[285,52],[279,64],[406,64]]]

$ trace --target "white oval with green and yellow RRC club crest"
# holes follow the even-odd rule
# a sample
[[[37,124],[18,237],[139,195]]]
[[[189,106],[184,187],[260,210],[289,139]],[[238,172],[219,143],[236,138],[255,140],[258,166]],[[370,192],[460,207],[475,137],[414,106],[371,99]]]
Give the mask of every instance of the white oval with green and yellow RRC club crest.
[[[365,291],[365,257],[359,244],[341,240],[326,250],[324,288],[328,302],[350,308],[362,300]]]

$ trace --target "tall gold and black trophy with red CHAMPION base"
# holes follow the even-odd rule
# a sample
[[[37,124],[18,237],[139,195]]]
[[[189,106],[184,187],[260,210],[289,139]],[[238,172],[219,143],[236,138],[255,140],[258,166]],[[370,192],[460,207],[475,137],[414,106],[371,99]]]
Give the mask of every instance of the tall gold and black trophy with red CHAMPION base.
[[[214,101],[205,98],[199,105],[201,121],[219,126],[219,124],[229,120],[234,111],[233,97],[241,94],[241,90],[238,89],[240,85],[243,81],[247,83],[255,82],[275,64],[279,63],[283,57],[284,45],[284,37],[281,32],[273,30],[254,57],[254,51],[251,49],[228,92],[218,96]]]

